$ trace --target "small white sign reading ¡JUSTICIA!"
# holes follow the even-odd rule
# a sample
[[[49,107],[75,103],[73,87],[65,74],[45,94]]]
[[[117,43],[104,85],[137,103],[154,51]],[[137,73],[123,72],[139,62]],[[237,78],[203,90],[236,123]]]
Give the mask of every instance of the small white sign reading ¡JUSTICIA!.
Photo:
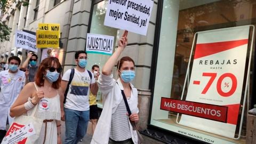
[[[114,36],[87,34],[86,52],[111,55],[113,52]]]

